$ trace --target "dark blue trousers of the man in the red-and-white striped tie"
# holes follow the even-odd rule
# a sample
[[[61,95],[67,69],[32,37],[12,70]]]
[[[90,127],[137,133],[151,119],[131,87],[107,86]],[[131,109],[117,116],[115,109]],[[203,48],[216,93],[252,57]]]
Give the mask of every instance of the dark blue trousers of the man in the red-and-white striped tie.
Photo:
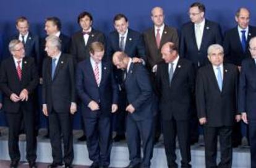
[[[88,118],[83,115],[86,125],[87,149],[89,158],[95,164],[109,166],[111,152],[111,119],[108,116],[99,115]],[[84,112],[83,112],[84,113]]]

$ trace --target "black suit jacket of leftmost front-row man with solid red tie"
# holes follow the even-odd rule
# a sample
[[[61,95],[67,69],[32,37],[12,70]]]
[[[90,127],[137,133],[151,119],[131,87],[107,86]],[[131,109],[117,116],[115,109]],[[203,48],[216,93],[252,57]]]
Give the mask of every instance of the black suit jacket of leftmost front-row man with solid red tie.
[[[33,92],[38,81],[38,72],[32,57],[23,57],[21,80],[19,80],[13,57],[8,57],[2,61],[0,88],[4,93],[4,111],[19,112],[20,106],[26,111],[33,111]],[[11,101],[11,94],[15,93],[19,96],[24,88],[28,91],[28,101],[18,101],[17,103]]]

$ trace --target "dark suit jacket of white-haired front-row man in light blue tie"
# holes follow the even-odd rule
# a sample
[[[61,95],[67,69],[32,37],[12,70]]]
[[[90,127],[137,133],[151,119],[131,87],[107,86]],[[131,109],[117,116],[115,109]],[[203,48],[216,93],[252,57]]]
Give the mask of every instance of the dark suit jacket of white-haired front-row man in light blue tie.
[[[231,126],[237,112],[238,69],[223,64],[223,88],[220,91],[211,64],[198,70],[196,101],[198,118],[206,117],[210,127]]]

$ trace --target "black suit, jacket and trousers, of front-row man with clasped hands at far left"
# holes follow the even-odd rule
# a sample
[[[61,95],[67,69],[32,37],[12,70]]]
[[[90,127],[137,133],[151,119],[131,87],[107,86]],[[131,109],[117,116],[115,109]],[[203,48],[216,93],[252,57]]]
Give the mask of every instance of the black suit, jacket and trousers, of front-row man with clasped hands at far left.
[[[4,111],[9,124],[9,155],[12,161],[20,160],[19,132],[22,117],[25,123],[27,140],[27,160],[34,162],[36,159],[35,111],[33,108],[33,92],[38,85],[38,72],[32,57],[22,60],[22,79],[19,80],[13,57],[2,61],[0,87],[4,93]],[[10,96],[12,93],[20,95],[23,89],[28,91],[28,101],[14,103]]]

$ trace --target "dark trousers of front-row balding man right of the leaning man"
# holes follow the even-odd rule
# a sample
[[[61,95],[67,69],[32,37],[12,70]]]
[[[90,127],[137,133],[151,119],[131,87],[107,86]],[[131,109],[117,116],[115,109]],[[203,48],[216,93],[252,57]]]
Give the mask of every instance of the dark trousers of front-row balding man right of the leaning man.
[[[163,120],[164,148],[168,167],[178,167],[176,163],[176,135],[181,151],[181,167],[191,167],[190,122],[189,120]]]

